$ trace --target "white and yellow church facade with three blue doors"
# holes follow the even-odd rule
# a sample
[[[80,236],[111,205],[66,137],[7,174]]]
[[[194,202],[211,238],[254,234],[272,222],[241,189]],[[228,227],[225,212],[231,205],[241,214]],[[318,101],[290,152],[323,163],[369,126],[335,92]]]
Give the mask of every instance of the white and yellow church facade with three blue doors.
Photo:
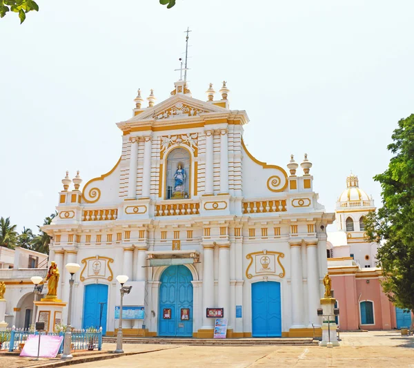
[[[128,275],[126,336],[313,336],[327,271],[326,226],[305,155],[288,172],[255,159],[243,142],[244,110],[230,110],[226,83],[215,100],[192,97],[182,80],[148,107],[140,91],[132,118],[119,122],[121,157],[81,188],[62,180],[50,260],[78,263],[72,325],[116,333],[117,275]],[[114,159],[116,161],[116,159]],[[299,168],[300,166],[300,168]],[[119,312],[119,311],[118,311]],[[63,321],[67,309],[63,309]]]

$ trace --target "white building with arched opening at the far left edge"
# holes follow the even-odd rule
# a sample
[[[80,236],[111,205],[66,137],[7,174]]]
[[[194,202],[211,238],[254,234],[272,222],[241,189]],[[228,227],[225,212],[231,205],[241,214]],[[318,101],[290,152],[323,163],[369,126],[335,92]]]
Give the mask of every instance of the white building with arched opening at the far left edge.
[[[6,284],[6,316],[8,327],[27,329],[34,322],[34,284],[32,276],[45,277],[48,255],[17,247],[0,246],[0,282]],[[0,316],[0,322],[3,316]]]

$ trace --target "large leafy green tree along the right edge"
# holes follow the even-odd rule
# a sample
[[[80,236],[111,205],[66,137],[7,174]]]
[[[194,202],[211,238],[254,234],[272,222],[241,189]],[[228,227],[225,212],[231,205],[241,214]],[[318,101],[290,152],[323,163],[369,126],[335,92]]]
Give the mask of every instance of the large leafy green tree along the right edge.
[[[384,173],[375,175],[382,188],[382,208],[365,220],[371,242],[380,244],[378,266],[382,288],[397,307],[414,310],[414,114],[398,122]],[[414,321],[413,321],[414,323]]]

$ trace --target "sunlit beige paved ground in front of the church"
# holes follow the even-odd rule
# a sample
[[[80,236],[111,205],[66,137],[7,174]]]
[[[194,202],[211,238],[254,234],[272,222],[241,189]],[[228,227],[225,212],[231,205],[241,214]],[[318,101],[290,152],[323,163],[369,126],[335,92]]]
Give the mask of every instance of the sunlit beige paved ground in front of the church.
[[[124,350],[142,354],[88,362],[77,368],[414,368],[414,338],[397,332],[342,333],[342,346],[326,347],[193,347],[182,345],[124,345]],[[113,350],[115,344],[104,344]],[[157,349],[157,351],[153,351]],[[32,361],[31,361],[32,362]],[[23,363],[23,365],[22,365]],[[0,358],[0,367],[28,367],[28,360]]]

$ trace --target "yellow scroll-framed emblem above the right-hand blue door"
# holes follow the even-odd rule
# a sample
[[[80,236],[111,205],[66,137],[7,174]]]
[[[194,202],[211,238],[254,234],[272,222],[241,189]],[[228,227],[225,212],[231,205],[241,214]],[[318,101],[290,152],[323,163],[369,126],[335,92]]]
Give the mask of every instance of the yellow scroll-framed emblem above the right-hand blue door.
[[[280,260],[284,258],[284,253],[264,249],[261,252],[249,253],[246,258],[250,260],[246,269],[246,278],[263,275],[277,275],[279,278],[284,278],[285,269]]]

